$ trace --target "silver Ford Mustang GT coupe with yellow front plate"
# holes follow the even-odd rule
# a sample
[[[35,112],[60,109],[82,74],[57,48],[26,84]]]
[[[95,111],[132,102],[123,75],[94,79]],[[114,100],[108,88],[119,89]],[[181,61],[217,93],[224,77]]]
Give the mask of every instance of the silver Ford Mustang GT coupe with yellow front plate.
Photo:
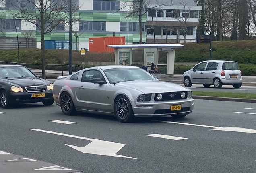
[[[185,117],[194,108],[190,89],[159,81],[135,66],[98,66],[60,76],[53,97],[65,115],[101,113],[124,123],[134,117]]]

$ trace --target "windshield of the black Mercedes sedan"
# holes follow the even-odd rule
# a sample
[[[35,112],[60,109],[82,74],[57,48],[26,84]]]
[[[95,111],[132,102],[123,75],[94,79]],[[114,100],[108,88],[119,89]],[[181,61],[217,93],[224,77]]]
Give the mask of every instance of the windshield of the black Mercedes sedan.
[[[24,66],[0,68],[0,78],[20,78],[20,77],[35,77],[35,75],[31,73]]]

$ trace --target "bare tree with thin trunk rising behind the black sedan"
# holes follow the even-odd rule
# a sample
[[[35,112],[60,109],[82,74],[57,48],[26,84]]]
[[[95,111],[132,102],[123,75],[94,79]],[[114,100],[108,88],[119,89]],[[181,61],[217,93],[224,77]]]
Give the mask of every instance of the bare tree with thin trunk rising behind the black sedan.
[[[11,3],[6,0],[6,7],[15,18],[21,18],[35,24],[41,32],[42,77],[45,78],[44,36],[56,27],[64,27],[69,20],[69,0],[22,0]],[[72,16],[79,9],[77,0],[72,0]]]

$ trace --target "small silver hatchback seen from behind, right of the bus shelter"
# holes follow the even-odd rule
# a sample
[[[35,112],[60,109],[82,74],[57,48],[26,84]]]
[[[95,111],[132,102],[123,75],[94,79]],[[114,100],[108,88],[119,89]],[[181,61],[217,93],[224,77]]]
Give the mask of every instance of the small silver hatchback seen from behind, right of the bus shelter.
[[[237,62],[208,60],[200,62],[184,72],[182,81],[185,87],[191,87],[192,84],[203,84],[204,87],[210,87],[213,84],[215,88],[221,88],[222,85],[233,85],[234,88],[240,88],[243,79]]]

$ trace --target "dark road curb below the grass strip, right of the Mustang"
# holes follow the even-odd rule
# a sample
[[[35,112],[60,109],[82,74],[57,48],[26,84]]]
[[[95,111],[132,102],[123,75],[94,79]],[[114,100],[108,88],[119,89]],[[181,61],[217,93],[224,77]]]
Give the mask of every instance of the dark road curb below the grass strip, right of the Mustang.
[[[256,99],[240,99],[240,98],[231,98],[231,97],[212,97],[212,96],[192,96],[193,99],[200,100],[216,100],[216,101],[235,101],[235,102],[249,102],[256,103]]]

